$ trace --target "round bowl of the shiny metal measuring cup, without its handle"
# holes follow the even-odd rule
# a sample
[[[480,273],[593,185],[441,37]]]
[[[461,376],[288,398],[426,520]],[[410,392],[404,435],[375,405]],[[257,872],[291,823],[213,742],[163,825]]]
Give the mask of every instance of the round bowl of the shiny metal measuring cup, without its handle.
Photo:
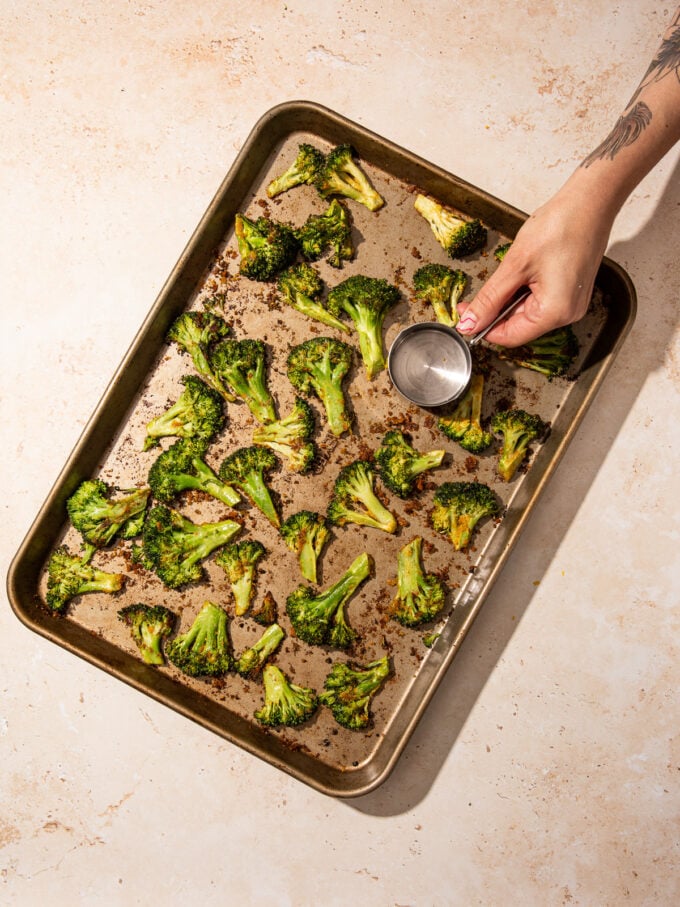
[[[465,391],[472,356],[458,331],[436,321],[423,321],[397,334],[387,356],[387,369],[407,400],[418,406],[443,406]]]

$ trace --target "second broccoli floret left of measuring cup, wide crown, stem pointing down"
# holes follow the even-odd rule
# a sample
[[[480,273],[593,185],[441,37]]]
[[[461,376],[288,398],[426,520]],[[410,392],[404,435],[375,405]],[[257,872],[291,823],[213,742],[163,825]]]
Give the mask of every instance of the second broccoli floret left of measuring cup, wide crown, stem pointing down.
[[[352,347],[333,337],[312,337],[288,354],[288,378],[302,394],[314,394],[326,411],[328,427],[340,436],[350,429],[342,380],[352,365]]]

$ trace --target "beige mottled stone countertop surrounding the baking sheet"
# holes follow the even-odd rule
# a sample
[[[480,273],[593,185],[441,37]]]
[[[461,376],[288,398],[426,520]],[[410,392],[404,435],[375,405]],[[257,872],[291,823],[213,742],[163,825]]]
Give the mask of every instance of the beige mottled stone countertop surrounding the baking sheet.
[[[266,110],[319,102],[530,211],[609,130],[671,12],[5,0],[5,572]],[[678,902],[679,166],[617,220],[638,319],[374,792],[315,792],[3,599],[2,903]]]

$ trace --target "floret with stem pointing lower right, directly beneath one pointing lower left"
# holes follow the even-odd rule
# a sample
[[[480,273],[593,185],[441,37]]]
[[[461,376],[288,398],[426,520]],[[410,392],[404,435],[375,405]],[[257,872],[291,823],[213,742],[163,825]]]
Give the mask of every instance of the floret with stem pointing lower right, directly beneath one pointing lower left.
[[[149,470],[149,486],[157,501],[169,504],[183,491],[203,491],[228,507],[241,496],[226,485],[208,466],[204,457],[208,445],[201,438],[180,438],[164,450]]]

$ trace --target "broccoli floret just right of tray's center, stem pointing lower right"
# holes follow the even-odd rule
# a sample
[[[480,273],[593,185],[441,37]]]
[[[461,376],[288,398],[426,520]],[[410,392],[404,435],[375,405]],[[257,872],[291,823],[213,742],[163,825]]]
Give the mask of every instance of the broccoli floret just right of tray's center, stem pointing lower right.
[[[397,520],[379,500],[374,485],[375,470],[367,460],[355,460],[343,466],[328,505],[330,522],[336,526],[357,523],[383,532],[396,532]]]

